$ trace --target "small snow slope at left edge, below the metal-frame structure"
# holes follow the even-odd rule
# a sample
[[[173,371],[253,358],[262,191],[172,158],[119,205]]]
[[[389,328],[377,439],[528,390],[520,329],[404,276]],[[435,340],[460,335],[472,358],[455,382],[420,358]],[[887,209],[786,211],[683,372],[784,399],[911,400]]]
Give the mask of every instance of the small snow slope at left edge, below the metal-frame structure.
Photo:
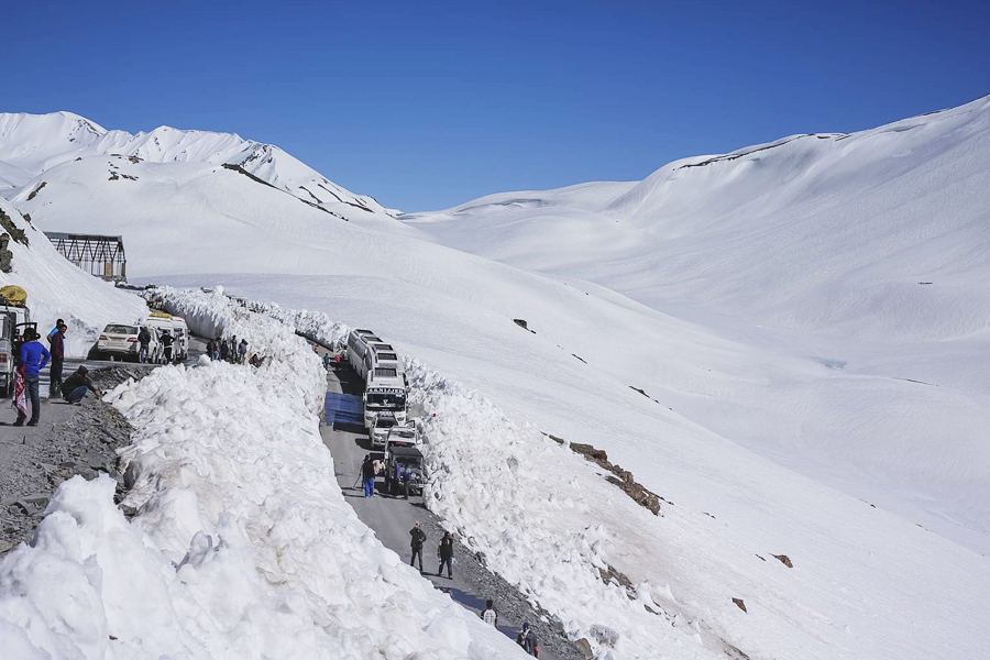
[[[75,267],[2,197],[0,213],[7,218],[4,222],[24,232],[23,240],[11,238],[8,244],[11,272],[0,272],[0,286],[13,284],[28,292],[31,320],[37,322],[42,334],[56,319],[66,321],[68,356],[85,356],[107,323],[134,322],[146,316],[143,300]],[[7,227],[2,231],[11,233]]]

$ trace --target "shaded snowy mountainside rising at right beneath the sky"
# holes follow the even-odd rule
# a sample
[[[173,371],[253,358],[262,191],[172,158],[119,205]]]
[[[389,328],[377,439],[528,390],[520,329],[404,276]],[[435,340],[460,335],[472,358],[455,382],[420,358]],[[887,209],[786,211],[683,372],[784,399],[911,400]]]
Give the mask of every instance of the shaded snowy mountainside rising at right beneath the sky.
[[[990,321],[990,97],[636,184],[502,194],[409,224],[460,250],[785,328],[942,341]],[[930,283],[930,284],[920,284]]]

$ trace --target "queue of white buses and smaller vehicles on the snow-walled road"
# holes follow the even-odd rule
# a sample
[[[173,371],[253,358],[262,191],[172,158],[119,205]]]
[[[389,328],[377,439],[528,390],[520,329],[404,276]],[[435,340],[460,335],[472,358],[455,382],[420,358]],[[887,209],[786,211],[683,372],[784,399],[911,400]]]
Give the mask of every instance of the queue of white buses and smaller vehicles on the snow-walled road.
[[[424,462],[419,425],[407,410],[408,382],[395,346],[371,330],[352,330],[344,358],[364,381],[364,427],[382,461],[386,491],[393,495],[422,494]]]

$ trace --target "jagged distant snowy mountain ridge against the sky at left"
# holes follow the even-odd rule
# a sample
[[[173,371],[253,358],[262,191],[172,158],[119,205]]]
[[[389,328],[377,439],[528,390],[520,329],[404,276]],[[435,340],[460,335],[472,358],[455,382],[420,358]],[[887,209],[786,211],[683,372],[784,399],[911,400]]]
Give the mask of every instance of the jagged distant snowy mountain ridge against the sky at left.
[[[0,190],[25,186],[63,163],[112,154],[150,163],[234,165],[308,204],[328,209],[345,205],[367,213],[389,215],[374,199],[341,188],[277,146],[244,140],[235,133],[160,127],[132,135],[107,131],[70,112],[0,114],[0,162],[7,166],[0,169]]]

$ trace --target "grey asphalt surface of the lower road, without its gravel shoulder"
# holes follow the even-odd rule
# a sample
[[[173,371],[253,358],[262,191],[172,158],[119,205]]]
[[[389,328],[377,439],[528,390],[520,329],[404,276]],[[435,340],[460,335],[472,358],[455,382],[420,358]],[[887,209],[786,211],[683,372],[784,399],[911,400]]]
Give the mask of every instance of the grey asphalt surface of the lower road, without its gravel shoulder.
[[[449,593],[455,602],[477,615],[485,607],[486,596],[480,593],[484,587],[480,587],[471,578],[472,574],[477,574],[477,571],[486,569],[473,556],[459,552],[455,554],[458,564],[454,565],[453,580],[448,580],[446,575],[442,578],[437,575],[439,564],[437,547],[443,529],[440,527],[439,518],[424,506],[422,498],[410,496],[407,501],[402,496],[393,497],[380,493],[377,485],[384,485],[381,479],[376,484],[375,496],[364,497],[359,474],[365,454],[371,451],[371,442],[364,429],[362,392],[363,384],[346,364],[331,369],[328,373],[324,424],[320,427],[320,432],[323,443],[333,455],[337,482],[344,497],[354,507],[358,517],[375,531],[378,539],[406,561],[411,559],[413,554],[409,547],[409,530],[417,520],[421,521],[427,534],[424,575],[437,588]],[[498,607],[497,602],[495,606]],[[499,612],[498,629],[506,636],[515,639],[520,625],[521,622],[509,620],[504,612]],[[540,648],[540,657],[556,660],[556,656],[546,647]]]

